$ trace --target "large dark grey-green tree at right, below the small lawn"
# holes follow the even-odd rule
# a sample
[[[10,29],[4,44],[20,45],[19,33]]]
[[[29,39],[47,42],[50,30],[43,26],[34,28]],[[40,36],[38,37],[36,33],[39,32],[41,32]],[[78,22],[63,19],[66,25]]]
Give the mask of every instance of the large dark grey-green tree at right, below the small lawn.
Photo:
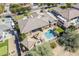
[[[75,52],[79,48],[79,33],[69,29],[59,37],[58,43],[65,47],[65,50]]]

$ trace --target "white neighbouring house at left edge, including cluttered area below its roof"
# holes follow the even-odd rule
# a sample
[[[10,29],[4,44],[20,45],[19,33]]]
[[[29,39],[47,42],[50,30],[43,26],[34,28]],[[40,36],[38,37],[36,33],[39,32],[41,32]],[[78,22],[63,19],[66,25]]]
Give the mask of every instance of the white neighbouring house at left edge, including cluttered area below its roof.
[[[11,18],[1,18],[0,19],[0,41],[8,39],[10,37],[9,31],[12,30],[14,25]]]

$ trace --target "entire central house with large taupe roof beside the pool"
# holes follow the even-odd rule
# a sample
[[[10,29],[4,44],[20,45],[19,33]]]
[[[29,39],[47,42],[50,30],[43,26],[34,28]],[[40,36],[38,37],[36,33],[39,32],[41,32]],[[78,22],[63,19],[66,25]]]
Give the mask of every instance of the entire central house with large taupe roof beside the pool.
[[[52,15],[53,16],[53,15]],[[53,16],[54,17],[54,16]],[[25,20],[18,20],[19,28],[21,33],[28,33],[32,30],[42,28],[49,25],[49,21],[54,23],[54,19],[46,12],[40,13],[39,11],[33,12],[32,15]]]

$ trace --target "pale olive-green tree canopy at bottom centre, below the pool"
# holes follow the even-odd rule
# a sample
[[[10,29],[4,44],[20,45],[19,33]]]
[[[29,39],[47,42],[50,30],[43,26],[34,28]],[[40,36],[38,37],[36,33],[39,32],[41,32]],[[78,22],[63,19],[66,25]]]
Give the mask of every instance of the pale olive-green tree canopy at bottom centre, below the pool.
[[[27,56],[51,56],[53,55],[52,49],[49,43],[44,43],[42,45],[36,46],[32,50],[30,50]]]

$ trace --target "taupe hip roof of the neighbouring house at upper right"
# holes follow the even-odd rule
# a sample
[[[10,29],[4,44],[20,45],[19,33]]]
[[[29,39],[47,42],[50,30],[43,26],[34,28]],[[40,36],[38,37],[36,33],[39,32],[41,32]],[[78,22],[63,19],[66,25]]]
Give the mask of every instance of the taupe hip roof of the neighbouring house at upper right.
[[[67,21],[79,16],[79,10],[74,8],[67,8],[67,9],[54,8],[54,10],[56,10],[59,14],[65,17]]]

